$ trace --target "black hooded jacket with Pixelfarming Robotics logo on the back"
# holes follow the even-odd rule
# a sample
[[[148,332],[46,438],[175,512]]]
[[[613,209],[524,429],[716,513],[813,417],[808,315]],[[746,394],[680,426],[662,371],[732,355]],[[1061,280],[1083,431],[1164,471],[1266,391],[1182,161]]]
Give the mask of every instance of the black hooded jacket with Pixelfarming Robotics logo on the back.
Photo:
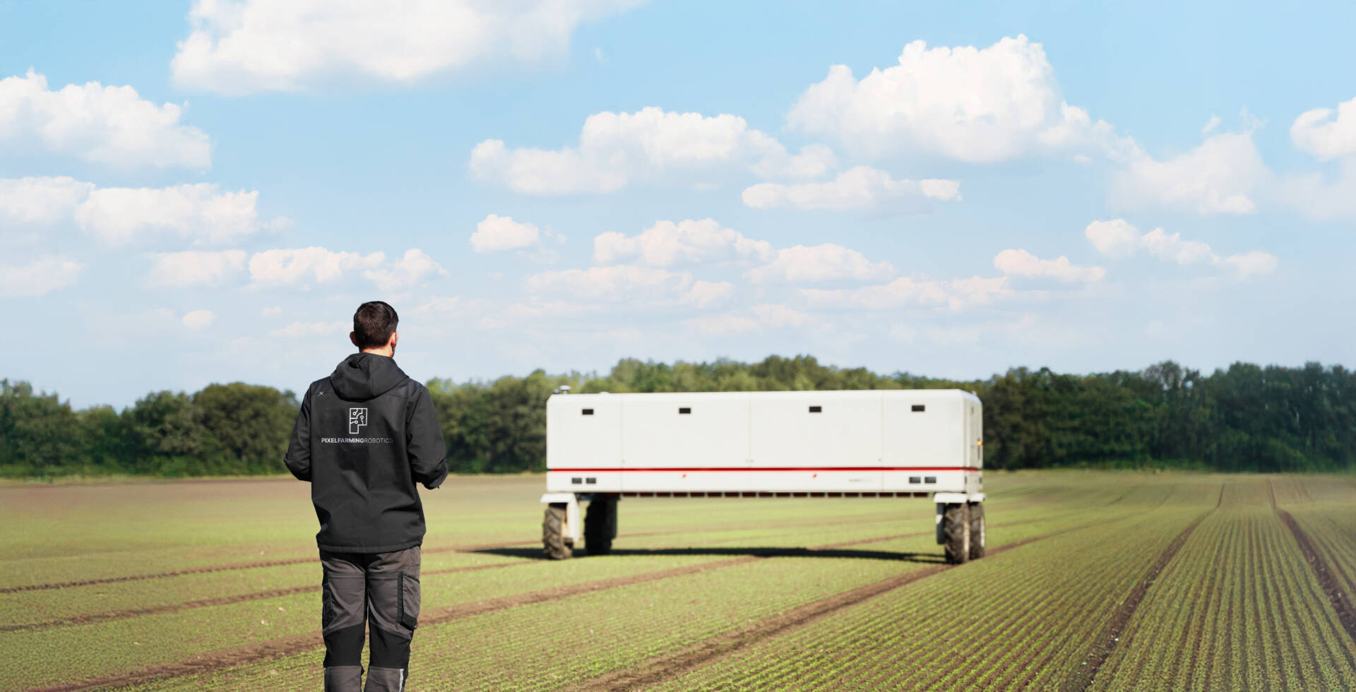
[[[311,482],[316,543],[334,552],[419,545],[424,518],[415,483],[433,490],[447,478],[428,389],[372,353],[355,353],[311,383],[283,461]]]

